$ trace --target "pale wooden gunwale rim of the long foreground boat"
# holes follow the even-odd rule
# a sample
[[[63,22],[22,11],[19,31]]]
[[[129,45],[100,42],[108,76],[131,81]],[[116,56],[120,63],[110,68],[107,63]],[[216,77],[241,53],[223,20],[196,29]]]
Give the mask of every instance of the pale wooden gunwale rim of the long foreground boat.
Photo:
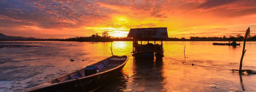
[[[45,83],[40,84],[41,86],[38,85],[38,88],[37,88],[37,86],[32,87],[31,89],[29,88],[30,90],[28,90],[28,91],[35,91],[35,90],[38,90],[38,89],[41,89],[41,88],[45,88],[45,87],[49,87],[49,86],[53,86],[53,85],[59,85],[59,84],[68,83],[68,82],[71,82],[71,81],[74,81],[74,80],[85,79],[85,78],[97,76],[97,75],[99,75],[99,74],[104,74],[104,73],[106,73],[106,72],[115,70],[115,69],[117,69],[117,68],[119,68],[119,67],[121,67],[121,66],[123,66],[124,64],[127,63],[128,59],[129,59],[129,56],[127,56],[127,55],[123,55],[123,56],[126,56],[126,60],[125,60],[121,65],[116,66],[116,67],[113,68],[113,69],[109,69],[109,70],[107,70],[107,71],[99,72],[99,73],[92,74],[92,75],[85,76],[85,77],[75,78],[75,79],[71,79],[71,80],[65,80],[65,81],[58,82],[58,83],[50,83],[51,81],[53,81],[53,80],[50,80],[50,81],[48,81],[48,82],[45,82]],[[118,56],[118,57],[123,57],[123,56]],[[110,57],[113,57],[113,56],[110,56]],[[110,57],[105,58],[105,59],[109,59]],[[103,59],[103,60],[105,60],[105,59]],[[103,60],[101,60],[101,61],[103,61]],[[98,61],[98,62],[101,62],[101,61]],[[96,62],[96,63],[98,63],[98,62]],[[96,63],[93,63],[93,64],[96,64]],[[90,64],[90,65],[93,65],[93,64]],[[82,67],[82,69],[84,69],[84,68],[85,68],[85,66]],[[80,69],[80,70],[82,70],[82,69]],[[80,70],[77,70],[77,71],[75,71],[75,72],[78,72],[78,71],[80,71]],[[71,73],[74,73],[74,72],[71,72]],[[68,74],[71,74],[71,73],[68,73]],[[65,74],[65,75],[63,75],[63,76],[67,76],[68,74]],[[63,76],[60,76],[60,77],[63,77]],[[58,77],[58,78],[60,78],[60,77]],[[58,79],[58,78],[56,78],[56,79]],[[56,80],[56,79],[54,79],[54,80]],[[47,84],[46,84],[46,83],[47,83]],[[44,85],[44,84],[45,84],[45,85]],[[26,91],[26,90],[25,90],[25,91]],[[27,92],[27,91],[26,91],[26,92]]]

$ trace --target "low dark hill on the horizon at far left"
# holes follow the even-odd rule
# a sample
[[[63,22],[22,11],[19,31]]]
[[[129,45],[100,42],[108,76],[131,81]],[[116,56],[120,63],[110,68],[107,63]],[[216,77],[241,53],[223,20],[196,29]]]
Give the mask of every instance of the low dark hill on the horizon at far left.
[[[12,36],[7,36],[2,33],[0,33],[0,41],[5,41],[5,40],[35,40],[36,38],[33,37],[12,37]]]

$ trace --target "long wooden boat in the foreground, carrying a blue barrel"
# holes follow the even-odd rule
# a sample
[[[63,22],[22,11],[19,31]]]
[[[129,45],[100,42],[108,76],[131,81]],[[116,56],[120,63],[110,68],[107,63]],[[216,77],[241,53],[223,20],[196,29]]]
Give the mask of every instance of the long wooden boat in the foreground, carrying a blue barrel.
[[[95,66],[96,74],[86,73],[87,67],[66,74],[41,85],[29,88],[26,92],[88,92],[96,90],[116,77],[125,66],[127,56],[111,56],[91,64]],[[88,75],[88,76],[87,76]]]

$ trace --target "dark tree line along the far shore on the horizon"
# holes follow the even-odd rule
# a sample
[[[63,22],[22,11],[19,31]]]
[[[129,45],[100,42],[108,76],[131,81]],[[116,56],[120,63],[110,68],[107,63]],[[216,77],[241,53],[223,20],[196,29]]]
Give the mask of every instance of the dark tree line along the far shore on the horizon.
[[[98,33],[92,34],[89,37],[72,37],[66,39],[1,39],[0,41],[75,41],[75,42],[113,42],[113,41],[132,41],[132,38],[111,38],[108,34],[108,31],[103,31],[102,36],[99,36]],[[243,36],[241,34],[237,34],[236,37],[233,36],[223,36],[223,37],[193,37],[191,36],[189,39],[184,37],[182,38],[167,38],[164,41],[243,41]],[[256,34],[251,36],[247,41],[256,41]]]

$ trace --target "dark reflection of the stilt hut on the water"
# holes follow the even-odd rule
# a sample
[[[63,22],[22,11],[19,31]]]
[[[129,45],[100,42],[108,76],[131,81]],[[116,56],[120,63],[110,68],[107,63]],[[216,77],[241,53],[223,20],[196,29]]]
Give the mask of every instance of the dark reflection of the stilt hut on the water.
[[[134,91],[160,91],[163,88],[163,59],[134,59],[133,71],[136,71],[132,77]]]

